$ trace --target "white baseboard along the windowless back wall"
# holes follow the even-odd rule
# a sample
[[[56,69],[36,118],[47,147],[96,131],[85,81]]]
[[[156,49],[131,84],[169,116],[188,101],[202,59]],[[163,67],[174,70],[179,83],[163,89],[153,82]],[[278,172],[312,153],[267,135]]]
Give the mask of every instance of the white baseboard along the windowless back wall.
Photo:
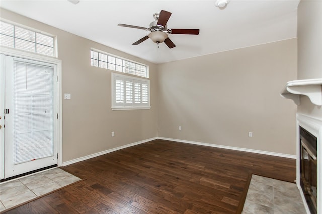
[[[296,155],[282,154],[282,153],[276,153],[276,152],[267,152],[267,151],[262,151],[262,150],[246,149],[246,148],[232,147],[232,146],[223,146],[223,145],[217,145],[217,144],[211,144],[211,143],[202,143],[202,142],[187,141],[187,140],[180,140],[180,139],[173,139],[173,138],[157,137],[157,139],[168,140],[168,141],[177,141],[177,142],[181,142],[181,143],[190,143],[190,144],[196,144],[196,145],[201,145],[201,146],[210,146],[210,147],[217,147],[217,148],[222,148],[222,149],[232,149],[232,150],[243,151],[243,152],[252,152],[252,153],[258,153],[258,154],[263,154],[263,155],[272,155],[272,156],[278,156],[278,157],[283,157],[283,158],[296,159]]]

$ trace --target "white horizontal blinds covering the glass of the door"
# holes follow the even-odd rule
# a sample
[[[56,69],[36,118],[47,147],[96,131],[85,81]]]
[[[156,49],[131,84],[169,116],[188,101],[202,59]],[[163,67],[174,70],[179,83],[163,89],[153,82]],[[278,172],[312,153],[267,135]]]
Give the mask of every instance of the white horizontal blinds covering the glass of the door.
[[[54,68],[14,62],[14,164],[54,155]]]

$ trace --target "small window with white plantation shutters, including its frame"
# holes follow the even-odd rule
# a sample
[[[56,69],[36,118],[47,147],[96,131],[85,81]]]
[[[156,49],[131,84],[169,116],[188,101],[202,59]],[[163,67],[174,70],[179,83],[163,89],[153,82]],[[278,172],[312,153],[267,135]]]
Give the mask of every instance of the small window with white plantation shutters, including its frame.
[[[112,73],[112,109],[149,109],[150,80]]]

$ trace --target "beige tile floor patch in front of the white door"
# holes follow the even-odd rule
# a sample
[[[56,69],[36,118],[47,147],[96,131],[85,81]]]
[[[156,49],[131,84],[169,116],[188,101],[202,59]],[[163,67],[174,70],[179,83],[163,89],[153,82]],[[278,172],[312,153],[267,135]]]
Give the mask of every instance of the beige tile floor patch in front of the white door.
[[[81,180],[54,168],[0,184],[0,211]]]

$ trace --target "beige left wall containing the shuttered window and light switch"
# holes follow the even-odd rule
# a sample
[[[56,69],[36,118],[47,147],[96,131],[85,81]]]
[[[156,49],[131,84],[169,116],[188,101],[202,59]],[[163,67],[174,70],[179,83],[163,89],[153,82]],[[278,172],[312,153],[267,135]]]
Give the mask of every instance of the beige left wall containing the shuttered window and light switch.
[[[0,9],[1,17],[58,37],[62,60],[63,162],[157,135],[156,65]],[[90,66],[90,48],[149,65],[151,109],[111,110],[111,71]],[[115,137],[111,137],[111,132]]]

